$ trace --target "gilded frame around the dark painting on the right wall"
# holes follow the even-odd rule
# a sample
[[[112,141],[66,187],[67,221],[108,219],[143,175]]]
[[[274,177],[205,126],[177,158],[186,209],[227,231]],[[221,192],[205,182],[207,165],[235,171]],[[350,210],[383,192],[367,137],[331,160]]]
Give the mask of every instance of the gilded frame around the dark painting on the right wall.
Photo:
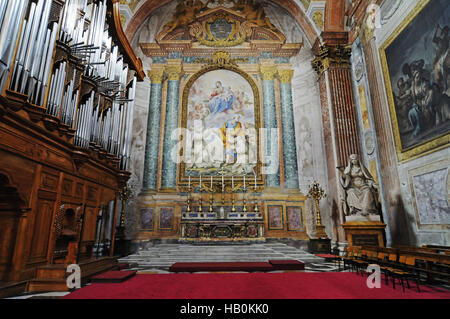
[[[397,152],[397,156],[400,162],[405,162],[405,161],[409,161],[409,160],[413,160],[415,158],[421,157],[421,156],[425,156],[427,154],[436,152],[438,150],[444,149],[446,147],[449,147],[450,144],[450,131],[447,129],[445,130],[445,126],[444,126],[444,131],[443,132],[435,132],[435,134],[428,134],[431,135],[429,138],[417,138],[417,142],[416,143],[405,143],[405,135],[404,133],[401,132],[400,129],[400,125],[405,123],[404,118],[399,118],[400,113],[400,107],[399,106],[399,100],[398,100],[398,96],[400,96],[399,94],[399,88],[395,88],[394,89],[394,84],[393,82],[396,82],[396,80],[400,81],[398,79],[398,72],[396,74],[393,74],[392,70],[390,70],[390,64],[392,64],[392,61],[390,60],[390,56],[388,54],[388,50],[392,51],[392,46],[394,44],[396,44],[397,39],[399,39],[400,37],[404,37],[405,35],[411,35],[411,33],[405,33],[407,31],[410,31],[411,28],[416,27],[416,29],[418,29],[419,25],[425,25],[424,20],[425,18],[428,18],[428,16],[426,16],[426,14],[428,12],[431,11],[430,7],[431,6],[435,6],[437,5],[436,3],[439,1],[432,1],[432,0],[423,0],[423,1],[419,1],[419,3],[417,4],[417,6],[411,11],[411,13],[405,18],[405,20],[397,27],[397,29],[395,29],[395,31],[389,36],[389,38],[381,45],[380,49],[379,49],[379,54],[380,54],[380,58],[381,58],[381,64],[382,64],[382,69],[383,69],[383,75],[384,75],[384,80],[385,80],[385,86],[386,86],[386,93],[387,93],[387,98],[388,98],[388,103],[389,103],[389,110],[390,110],[390,116],[391,116],[391,124],[392,124],[392,130],[393,130],[393,135],[394,135],[394,140],[395,140],[395,147],[396,147],[396,152]],[[426,9],[426,11],[424,11]],[[432,17],[429,17],[430,19]],[[428,25],[430,24],[430,19],[427,20]],[[425,34],[430,34],[430,29],[425,29],[425,26],[423,27],[423,34],[418,34],[417,38],[419,39],[419,37],[423,37]],[[398,41],[397,41],[398,42]],[[403,41],[405,42],[405,41]],[[417,41],[419,42],[419,41]],[[429,42],[431,42],[429,40]],[[426,41],[425,41],[426,44]],[[422,45],[422,44],[420,44]],[[428,43],[428,46],[432,46],[433,43]],[[417,58],[417,50],[416,47],[418,46],[415,45],[414,47],[409,47],[409,48],[403,48],[403,47],[399,47],[397,50],[402,51],[403,52],[406,49],[409,49],[408,52],[412,52],[412,56],[411,56],[411,60],[407,61],[407,62],[411,62],[411,67],[413,64],[414,59],[418,59]],[[429,48],[429,50],[434,50],[433,48]],[[395,51],[395,48],[394,48]],[[429,51],[427,52],[427,56]],[[413,56],[415,54],[415,56]],[[416,61],[417,62],[417,61]],[[425,63],[425,67],[428,66],[429,68],[429,64],[430,61],[427,61],[426,58],[422,59],[422,62]],[[422,65],[423,65],[422,63]],[[432,62],[431,62],[432,63]],[[391,65],[392,66],[392,65]],[[424,71],[426,71],[424,69]],[[403,69],[403,72],[405,72],[405,70]],[[405,74],[405,73],[404,73]],[[430,80],[430,84],[432,84],[433,81]],[[397,85],[399,85],[397,83]],[[447,91],[448,92],[448,91]],[[397,101],[397,102],[396,102]],[[410,119],[410,114],[407,114],[407,120],[406,120],[406,125],[413,125],[411,123],[411,119]],[[448,121],[447,121],[448,123]],[[424,135],[426,135],[424,132]],[[409,145],[408,145],[409,144]]]

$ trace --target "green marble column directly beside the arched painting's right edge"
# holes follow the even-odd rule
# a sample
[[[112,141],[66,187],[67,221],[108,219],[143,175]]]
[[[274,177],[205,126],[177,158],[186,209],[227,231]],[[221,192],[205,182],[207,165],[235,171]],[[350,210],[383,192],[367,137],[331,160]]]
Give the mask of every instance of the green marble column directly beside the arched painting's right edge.
[[[277,110],[275,103],[275,65],[260,67],[263,79],[263,119],[264,119],[264,163],[267,187],[280,187],[280,163],[277,125]],[[274,130],[275,129],[275,130]],[[269,168],[269,169],[268,169]]]

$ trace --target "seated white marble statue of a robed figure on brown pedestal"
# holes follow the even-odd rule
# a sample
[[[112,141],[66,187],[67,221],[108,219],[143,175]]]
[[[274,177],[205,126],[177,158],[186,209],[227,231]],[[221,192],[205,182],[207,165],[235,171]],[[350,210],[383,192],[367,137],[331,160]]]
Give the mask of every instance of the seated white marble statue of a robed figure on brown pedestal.
[[[378,185],[359,156],[352,154],[348,165],[341,170],[340,182],[345,191],[344,213],[351,215],[379,215]]]

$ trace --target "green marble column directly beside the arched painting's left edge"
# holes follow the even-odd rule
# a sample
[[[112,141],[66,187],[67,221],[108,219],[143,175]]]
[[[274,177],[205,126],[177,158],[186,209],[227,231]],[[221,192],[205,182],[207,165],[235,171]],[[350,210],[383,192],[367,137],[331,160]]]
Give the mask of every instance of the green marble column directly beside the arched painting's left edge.
[[[164,124],[163,165],[161,172],[161,188],[174,189],[177,186],[177,163],[172,158],[172,152],[177,145],[172,140],[172,133],[178,128],[179,101],[180,101],[180,76],[181,65],[169,65],[166,68],[169,78],[167,89],[166,120]]]

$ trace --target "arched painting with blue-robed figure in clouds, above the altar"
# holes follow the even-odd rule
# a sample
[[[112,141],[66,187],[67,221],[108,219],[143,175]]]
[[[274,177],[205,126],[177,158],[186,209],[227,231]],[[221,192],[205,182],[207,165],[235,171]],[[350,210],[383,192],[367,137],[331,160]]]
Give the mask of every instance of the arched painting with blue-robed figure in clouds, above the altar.
[[[201,75],[190,88],[186,116],[192,132],[186,175],[253,174],[255,97],[243,76],[225,69]]]

